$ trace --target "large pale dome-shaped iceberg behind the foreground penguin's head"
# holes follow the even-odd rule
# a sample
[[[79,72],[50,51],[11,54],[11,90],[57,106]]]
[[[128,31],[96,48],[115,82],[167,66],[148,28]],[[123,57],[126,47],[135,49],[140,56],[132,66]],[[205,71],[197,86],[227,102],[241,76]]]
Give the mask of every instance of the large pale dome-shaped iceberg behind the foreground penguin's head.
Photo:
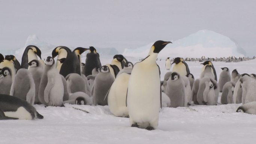
[[[144,58],[154,42],[137,49],[125,49],[123,55]],[[160,53],[160,58],[183,57],[228,57],[245,56],[246,52],[229,37],[210,30],[200,30],[183,39],[168,44]]]

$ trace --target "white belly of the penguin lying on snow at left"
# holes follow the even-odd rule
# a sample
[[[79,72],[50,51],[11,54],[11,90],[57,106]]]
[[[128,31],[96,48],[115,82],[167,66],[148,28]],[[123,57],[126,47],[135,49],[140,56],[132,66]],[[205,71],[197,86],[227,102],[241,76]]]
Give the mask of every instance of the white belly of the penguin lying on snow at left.
[[[23,120],[32,120],[31,114],[24,107],[19,107],[17,111],[6,111],[4,112],[4,115]]]

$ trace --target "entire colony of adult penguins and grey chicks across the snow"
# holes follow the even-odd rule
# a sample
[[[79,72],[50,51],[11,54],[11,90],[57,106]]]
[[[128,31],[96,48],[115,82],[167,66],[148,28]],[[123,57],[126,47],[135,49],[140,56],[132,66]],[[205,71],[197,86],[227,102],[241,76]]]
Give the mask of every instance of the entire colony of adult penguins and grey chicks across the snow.
[[[168,71],[160,81],[158,53],[171,42],[156,41],[148,55],[132,64],[123,55],[101,65],[97,50],[58,46],[41,59],[37,46],[27,46],[21,64],[13,55],[0,54],[0,120],[43,119],[34,104],[60,106],[109,105],[117,117],[128,117],[131,127],[157,129],[162,107],[242,103],[237,112],[256,114],[256,75],[230,73],[223,67],[217,81],[213,61],[238,62],[250,58],[180,58],[165,61]],[[86,54],[85,62],[81,54]],[[56,58],[57,57],[57,58]],[[55,58],[55,59],[54,59]],[[255,57],[253,58],[255,59]],[[161,60],[161,59],[160,59]],[[201,61],[199,79],[185,61]]]

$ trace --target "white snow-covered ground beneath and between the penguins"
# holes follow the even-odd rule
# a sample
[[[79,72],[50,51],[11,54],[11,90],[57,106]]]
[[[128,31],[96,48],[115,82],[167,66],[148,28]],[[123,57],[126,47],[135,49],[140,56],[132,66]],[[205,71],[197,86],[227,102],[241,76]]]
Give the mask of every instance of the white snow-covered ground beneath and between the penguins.
[[[138,58],[127,59],[133,63],[138,61]],[[104,65],[111,60],[106,58],[101,62]],[[157,63],[163,79],[167,72],[165,60]],[[198,78],[200,62],[187,63]],[[236,68],[239,73],[256,71],[256,60],[213,64],[218,77],[220,67],[231,71]],[[1,120],[0,144],[255,144],[256,115],[235,113],[240,105],[162,108],[158,129],[154,131],[131,128],[128,118],[115,117],[108,106],[66,104],[45,108],[34,105],[44,119]]]

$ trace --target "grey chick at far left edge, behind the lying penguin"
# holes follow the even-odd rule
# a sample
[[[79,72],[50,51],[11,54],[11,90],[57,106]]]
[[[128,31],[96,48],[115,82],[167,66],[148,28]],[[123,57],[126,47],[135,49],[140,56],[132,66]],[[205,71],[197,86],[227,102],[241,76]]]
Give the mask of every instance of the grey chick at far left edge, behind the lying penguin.
[[[10,88],[12,86],[12,73],[10,68],[4,67],[1,70],[4,78],[0,80],[0,94],[10,94]]]

